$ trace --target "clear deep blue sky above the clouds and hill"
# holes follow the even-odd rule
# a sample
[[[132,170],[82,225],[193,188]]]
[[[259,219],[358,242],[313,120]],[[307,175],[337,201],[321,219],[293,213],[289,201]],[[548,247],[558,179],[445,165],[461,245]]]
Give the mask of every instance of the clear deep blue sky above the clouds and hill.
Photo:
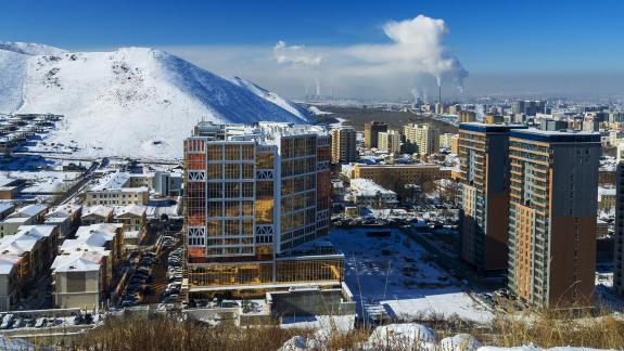
[[[445,50],[471,77],[622,74],[623,11],[624,2],[615,0],[9,1],[2,5],[0,41],[71,50],[145,46],[174,52],[271,48],[278,40],[333,48],[387,42],[385,23],[423,14],[445,21],[450,30]],[[216,70],[231,74],[233,68]]]

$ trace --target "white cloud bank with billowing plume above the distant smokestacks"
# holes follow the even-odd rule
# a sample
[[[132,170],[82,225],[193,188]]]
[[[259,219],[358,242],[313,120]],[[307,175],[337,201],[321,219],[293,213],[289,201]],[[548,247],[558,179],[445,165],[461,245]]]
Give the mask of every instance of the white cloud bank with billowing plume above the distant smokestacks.
[[[382,26],[385,43],[353,46],[163,48],[225,76],[242,76],[288,96],[329,94],[349,98],[409,96],[415,89],[446,93],[467,72],[444,46],[448,27],[423,15]]]

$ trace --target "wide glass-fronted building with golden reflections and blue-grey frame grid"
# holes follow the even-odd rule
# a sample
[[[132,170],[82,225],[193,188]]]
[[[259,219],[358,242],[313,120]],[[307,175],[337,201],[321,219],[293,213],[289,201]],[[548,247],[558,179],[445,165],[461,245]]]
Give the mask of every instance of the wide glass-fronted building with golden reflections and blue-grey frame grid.
[[[322,128],[201,122],[184,141],[189,294],[340,284]],[[306,245],[304,245],[306,244]]]

